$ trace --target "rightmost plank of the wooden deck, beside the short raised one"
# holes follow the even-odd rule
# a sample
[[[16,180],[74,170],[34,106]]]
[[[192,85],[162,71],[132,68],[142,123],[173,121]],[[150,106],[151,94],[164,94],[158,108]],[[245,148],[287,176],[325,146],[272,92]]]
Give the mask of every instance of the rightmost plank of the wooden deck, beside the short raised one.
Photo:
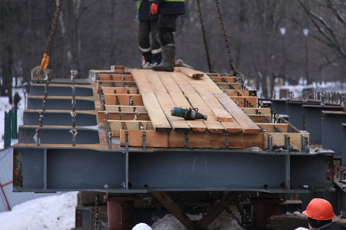
[[[215,97],[243,127],[244,133],[259,133],[260,128],[225,93],[214,93]]]

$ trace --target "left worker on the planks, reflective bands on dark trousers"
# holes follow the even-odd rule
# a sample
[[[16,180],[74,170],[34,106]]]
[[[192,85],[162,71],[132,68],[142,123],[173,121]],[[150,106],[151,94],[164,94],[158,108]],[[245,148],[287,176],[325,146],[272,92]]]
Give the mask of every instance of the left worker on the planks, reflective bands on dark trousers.
[[[159,16],[150,13],[152,0],[137,0],[138,45],[145,59],[144,69],[151,69],[161,62],[161,47],[157,40]],[[150,34],[152,44],[150,45]]]

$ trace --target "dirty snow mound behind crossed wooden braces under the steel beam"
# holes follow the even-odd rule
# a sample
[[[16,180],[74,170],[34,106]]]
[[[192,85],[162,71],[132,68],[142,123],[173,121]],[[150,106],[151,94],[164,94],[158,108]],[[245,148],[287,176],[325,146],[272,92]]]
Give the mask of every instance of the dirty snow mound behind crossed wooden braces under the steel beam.
[[[199,215],[187,215],[192,221],[198,221],[202,218]],[[186,230],[186,228],[172,215],[167,214],[164,218],[158,220],[152,226],[153,230]],[[232,218],[232,215],[222,213],[213,221],[208,230],[244,230],[239,226],[238,222]]]

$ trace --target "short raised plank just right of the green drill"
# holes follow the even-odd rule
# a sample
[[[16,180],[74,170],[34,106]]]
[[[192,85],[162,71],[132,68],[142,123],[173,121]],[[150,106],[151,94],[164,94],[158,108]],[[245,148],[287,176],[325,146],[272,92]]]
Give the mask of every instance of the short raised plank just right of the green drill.
[[[199,96],[211,109],[217,121],[233,121],[233,117],[228,113],[212,93],[199,93]]]

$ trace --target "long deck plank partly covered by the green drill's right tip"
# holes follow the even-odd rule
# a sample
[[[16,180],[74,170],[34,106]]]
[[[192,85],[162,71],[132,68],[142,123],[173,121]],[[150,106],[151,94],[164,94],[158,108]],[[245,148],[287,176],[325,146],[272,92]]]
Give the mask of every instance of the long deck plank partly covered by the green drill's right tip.
[[[223,133],[226,131],[226,128],[216,120],[212,115],[211,110],[203,99],[199,96],[194,88],[187,82],[187,77],[184,77],[183,74],[179,72],[171,73],[175,83],[183,91],[184,96],[187,98],[188,102],[192,105],[193,108],[198,108],[198,112],[204,115],[208,115],[207,120],[203,120],[204,124],[207,126],[208,130],[212,133]],[[192,79],[192,78],[190,78]],[[209,79],[210,80],[210,79]]]

